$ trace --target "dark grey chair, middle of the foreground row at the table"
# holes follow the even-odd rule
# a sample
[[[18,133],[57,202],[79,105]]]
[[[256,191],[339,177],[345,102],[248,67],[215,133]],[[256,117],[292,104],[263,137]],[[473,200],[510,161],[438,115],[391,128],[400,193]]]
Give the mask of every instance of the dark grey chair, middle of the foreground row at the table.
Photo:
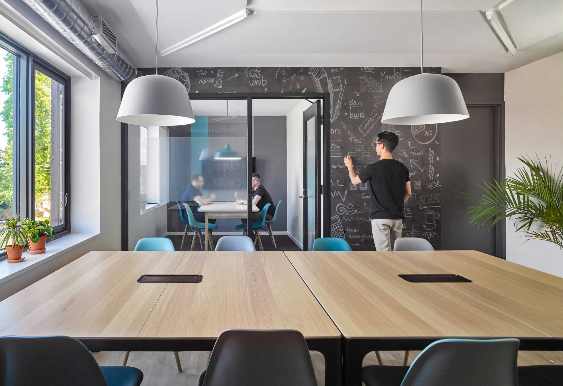
[[[225,330],[199,386],[317,386],[309,348],[296,330]]]

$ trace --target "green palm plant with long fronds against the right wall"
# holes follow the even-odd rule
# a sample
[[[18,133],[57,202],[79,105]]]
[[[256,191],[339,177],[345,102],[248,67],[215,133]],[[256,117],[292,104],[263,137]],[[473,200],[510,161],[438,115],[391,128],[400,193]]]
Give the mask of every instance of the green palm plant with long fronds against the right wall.
[[[545,240],[563,249],[563,166],[553,167],[547,157],[545,163],[539,157],[537,162],[518,159],[524,166],[505,183],[481,180],[476,184],[480,194],[462,193],[472,204],[466,210],[470,224],[489,224],[490,230],[498,221],[512,218],[527,239]]]

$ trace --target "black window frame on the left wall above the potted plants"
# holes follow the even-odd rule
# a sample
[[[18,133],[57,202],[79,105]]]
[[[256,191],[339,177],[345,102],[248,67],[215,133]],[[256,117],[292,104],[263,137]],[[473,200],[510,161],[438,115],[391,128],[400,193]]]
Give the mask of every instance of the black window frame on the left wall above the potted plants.
[[[64,85],[64,117],[63,119],[63,163],[64,163],[64,220],[55,229],[55,239],[70,234],[70,76],[41,57],[26,50],[0,32],[0,47],[17,57],[14,78],[17,79],[17,97],[14,99],[14,128],[12,143],[14,144],[14,213],[20,219],[35,216],[35,69]],[[57,200],[58,203],[58,200]],[[50,239],[47,239],[50,242]],[[7,258],[6,251],[0,250],[0,261]]]

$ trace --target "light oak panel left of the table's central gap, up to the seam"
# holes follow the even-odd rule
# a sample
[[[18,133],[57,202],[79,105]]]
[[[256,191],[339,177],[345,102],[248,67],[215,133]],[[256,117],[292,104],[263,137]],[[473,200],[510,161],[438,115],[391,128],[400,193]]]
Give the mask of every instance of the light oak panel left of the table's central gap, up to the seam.
[[[175,273],[202,274],[203,280],[168,283],[140,338],[216,338],[226,329],[341,336],[283,252],[186,252]]]

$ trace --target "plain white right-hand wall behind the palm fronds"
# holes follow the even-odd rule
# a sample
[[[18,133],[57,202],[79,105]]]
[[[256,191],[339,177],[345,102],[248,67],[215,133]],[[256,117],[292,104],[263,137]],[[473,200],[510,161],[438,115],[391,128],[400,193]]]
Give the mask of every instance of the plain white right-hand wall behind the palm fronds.
[[[557,162],[563,156],[563,52],[507,72],[504,100],[506,175],[521,165],[520,155],[547,154]],[[563,277],[563,250],[544,241],[524,242],[521,235],[507,222],[507,260]]]

